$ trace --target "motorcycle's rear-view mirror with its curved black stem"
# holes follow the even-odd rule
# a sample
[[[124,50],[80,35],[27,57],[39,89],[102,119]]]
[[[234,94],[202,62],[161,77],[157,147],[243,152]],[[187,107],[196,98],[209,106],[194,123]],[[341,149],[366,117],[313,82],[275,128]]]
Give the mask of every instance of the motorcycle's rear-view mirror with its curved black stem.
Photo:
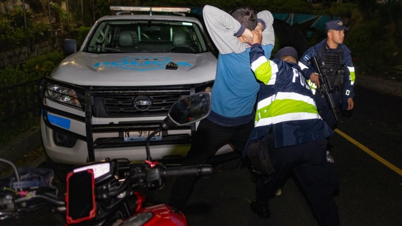
[[[207,118],[211,112],[211,106],[212,97],[210,92],[192,94],[176,101],[170,107],[167,117],[162,121],[161,125],[145,141],[147,160],[152,161],[149,151],[149,142],[152,136],[162,130],[192,124]]]

